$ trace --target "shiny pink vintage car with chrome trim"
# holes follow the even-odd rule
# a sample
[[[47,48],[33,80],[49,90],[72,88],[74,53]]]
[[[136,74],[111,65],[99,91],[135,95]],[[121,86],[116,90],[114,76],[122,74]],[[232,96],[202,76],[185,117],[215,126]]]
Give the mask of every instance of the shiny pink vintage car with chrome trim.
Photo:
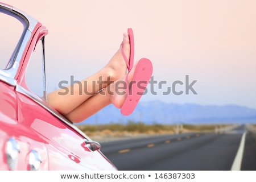
[[[6,60],[5,55],[0,54],[0,65],[5,63],[0,67],[0,170],[117,170],[101,153],[99,143],[47,104],[46,27],[30,15],[3,3],[0,3],[0,15],[17,20],[22,27],[10,59]],[[4,28],[5,24],[1,22],[1,29]],[[1,44],[8,46],[3,45],[2,40]],[[43,75],[42,96],[32,92],[26,81],[27,68],[32,64],[31,57],[38,46],[41,47],[43,71],[35,72],[41,71]],[[40,82],[36,84],[42,85]]]

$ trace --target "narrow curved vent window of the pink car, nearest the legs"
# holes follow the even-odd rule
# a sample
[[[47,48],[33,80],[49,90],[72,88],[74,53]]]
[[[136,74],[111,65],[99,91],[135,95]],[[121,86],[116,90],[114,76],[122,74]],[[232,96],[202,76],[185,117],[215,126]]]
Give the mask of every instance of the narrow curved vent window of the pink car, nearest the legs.
[[[26,84],[31,92],[39,97],[43,97],[43,66],[42,66],[43,46],[40,40],[32,53],[30,63],[26,71]]]

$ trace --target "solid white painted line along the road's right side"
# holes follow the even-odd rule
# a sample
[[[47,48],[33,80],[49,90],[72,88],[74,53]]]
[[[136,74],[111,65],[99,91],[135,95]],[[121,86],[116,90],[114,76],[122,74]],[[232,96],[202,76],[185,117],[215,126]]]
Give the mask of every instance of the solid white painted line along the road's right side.
[[[246,131],[242,135],[240,146],[238,148],[236,158],[234,159],[234,162],[232,164],[231,171],[240,171],[241,170],[243,149],[245,148],[245,136],[246,136]]]

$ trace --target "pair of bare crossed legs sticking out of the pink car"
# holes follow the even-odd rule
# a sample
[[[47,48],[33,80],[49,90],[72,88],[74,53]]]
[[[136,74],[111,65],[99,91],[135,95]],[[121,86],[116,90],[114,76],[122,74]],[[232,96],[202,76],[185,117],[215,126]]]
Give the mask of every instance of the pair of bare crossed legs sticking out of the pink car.
[[[123,34],[123,51],[129,60],[130,42],[127,33]],[[59,89],[49,93],[48,103],[72,122],[81,122],[109,104],[121,108],[126,94],[117,94],[115,83],[125,79],[126,68],[120,47],[104,68],[79,84],[67,87],[67,90],[72,89],[73,92],[60,94],[63,90]],[[133,78],[133,69],[128,75],[128,81]],[[86,92],[81,92],[81,89],[86,89]]]

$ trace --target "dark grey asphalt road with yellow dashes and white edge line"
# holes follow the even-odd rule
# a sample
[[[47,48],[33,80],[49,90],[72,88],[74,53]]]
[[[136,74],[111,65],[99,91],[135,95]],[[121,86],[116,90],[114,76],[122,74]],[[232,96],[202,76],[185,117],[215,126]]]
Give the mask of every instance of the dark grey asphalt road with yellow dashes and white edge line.
[[[256,140],[245,126],[224,134],[186,133],[101,145],[121,171],[256,170]]]

